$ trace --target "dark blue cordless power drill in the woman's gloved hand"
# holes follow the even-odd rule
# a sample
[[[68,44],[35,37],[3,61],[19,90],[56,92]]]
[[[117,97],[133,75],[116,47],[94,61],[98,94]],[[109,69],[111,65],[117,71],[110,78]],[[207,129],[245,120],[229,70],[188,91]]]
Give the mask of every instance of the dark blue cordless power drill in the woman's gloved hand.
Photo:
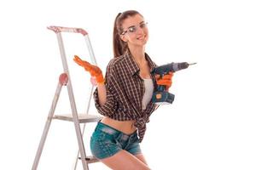
[[[183,69],[186,69],[189,67],[189,65],[195,65],[196,63],[187,63],[187,62],[182,62],[182,63],[170,63],[167,65],[161,65],[152,71],[152,73],[160,75],[160,77],[163,77],[164,75],[168,74],[169,71],[175,72],[175,71],[180,71]],[[155,104],[172,104],[174,100],[175,95],[170,94],[166,91],[166,86],[164,85],[157,85],[156,91],[153,93],[152,97],[152,102]]]

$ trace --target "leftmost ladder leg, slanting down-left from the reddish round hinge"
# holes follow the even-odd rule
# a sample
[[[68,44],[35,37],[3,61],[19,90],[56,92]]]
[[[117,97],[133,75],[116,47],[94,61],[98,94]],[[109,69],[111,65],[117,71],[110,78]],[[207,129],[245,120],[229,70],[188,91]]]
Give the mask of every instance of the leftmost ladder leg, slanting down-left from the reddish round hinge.
[[[37,151],[35,160],[34,160],[33,165],[32,165],[32,170],[36,170],[38,168],[39,159],[42,155],[42,151],[44,149],[44,143],[45,143],[47,134],[49,132],[49,126],[50,126],[51,120],[54,116],[55,108],[56,108],[58,99],[59,99],[60,94],[61,94],[61,88],[62,88],[62,84],[60,82],[58,82],[58,85],[57,85],[57,88],[56,88],[56,91],[55,91],[55,96],[54,96],[54,99],[52,101],[52,105],[51,105],[50,110],[49,110],[49,115],[48,115],[47,120],[46,120],[45,125],[44,125],[44,132],[42,134],[40,143],[38,145],[38,151]]]

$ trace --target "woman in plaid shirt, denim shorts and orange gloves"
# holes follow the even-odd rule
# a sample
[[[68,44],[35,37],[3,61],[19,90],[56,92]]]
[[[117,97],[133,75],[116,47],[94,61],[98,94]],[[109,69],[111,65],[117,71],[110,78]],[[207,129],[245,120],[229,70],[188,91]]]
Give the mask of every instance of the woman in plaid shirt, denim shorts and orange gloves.
[[[158,80],[151,74],[156,65],[145,53],[147,42],[143,15],[128,10],[119,13],[114,21],[114,58],[108,63],[105,79],[96,65],[74,58],[96,77],[96,109],[105,117],[92,134],[90,150],[112,169],[150,169],[139,143],[149,116],[157,108],[151,101],[155,82],[170,88],[172,73]]]

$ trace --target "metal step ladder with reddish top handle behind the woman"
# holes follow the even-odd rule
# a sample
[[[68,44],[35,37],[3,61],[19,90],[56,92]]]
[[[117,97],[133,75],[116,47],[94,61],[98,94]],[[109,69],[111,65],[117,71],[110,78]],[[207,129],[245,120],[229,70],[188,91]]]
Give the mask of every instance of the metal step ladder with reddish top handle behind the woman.
[[[47,134],[49,132],[49,126],[50,126],[52,119],[59,119],[62,121],[68,121],[68,122],[74,123],[75,132],[76,132],[78,143],[79,143],[79,151],[78,151],[78,155],[76,158],[74,169],[76,169],[78,159],[80,159],[82,161],[84,170],[89,170],[88,164],[96,162],[97,160],[94,156],[86,156],[85,149],[84,149],[84,142],[83,142],[84,127],[85,127],[85,123],[87,123],[87,122],[99,122],[102,119],[102,116],[89,115],[89,113],[88,113],[90,110],[90,99],[92,97],[93,89],[94,89],[94,86],[91,84],[90,84],[90,98],[89,98],[89,102],[88,102],[86,111],[84,114],[78,114],[77,107],[75,104],[74,95],[73,95],[73,87],[72,87],[72,83],[71,83],[71,79],[70,79],[70,75],[69,75],[69,71],[68,71],[67,58],[66,58],[66,54],[65,54],[65,50],[64,50],[63,40],[61,37],[61,32],[72,32],[72,33],[82,34],[84,36],[87,48],[89,50],[90,60],[93,65],[96,65],[96,58],[93,53],[93,50],[92,50],[92,47],[90,44],[90,38],[88,36],[87,31],[84,31],[81,28],[71,28],[71,27],[62,27],[62,26],[49,26],[48,29],[51,31],[54,31],[57,36],[59,48],[61,51],[61,61],[62,61],[62,66],[63,66],[64,72],[61,73],[61,75],[59,77],[57,88],[55,90],[55,96],[52,101],[46,123],[44,125],[44,132],[43,132],[43,135],[41,137],[41,140],[40,140],[40,143],[38,146],[37,154],[33,161],[32,170],[36,170],[38,168],[38,162],[40,160],[42,151],[44,149],[44,143],[45,143]],[[70,115],[55,115],[55,107],[57,105],[59,96],[61,94],[61,88],[63,86],[67,86],[67,92],[68,92],[68,97],[69,97],[69,101],[70,101],[70,105],[71,105],[71,109],[72,109],[72,114],[70,114]],[[83,127],[82,131],[81,131],[81,128],[79,125],[80,123],[84,123],[84,127]],[[79,155],[80,155],[80,157],[79,157]]]

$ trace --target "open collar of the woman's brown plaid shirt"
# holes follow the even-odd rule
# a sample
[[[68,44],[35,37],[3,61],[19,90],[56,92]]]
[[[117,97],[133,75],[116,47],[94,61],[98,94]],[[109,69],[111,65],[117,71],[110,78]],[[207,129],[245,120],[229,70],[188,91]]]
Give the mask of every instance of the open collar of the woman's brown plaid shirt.
[[[156,67],[156,65],[150,59],[148,54],[145,53],[145,57],[148,60],[150,72],[152,72]],[[135,75],[138,71],[140,71],[139,66],[137,65],[137,63],[135,62],[134,58],[132,57],[131,53],[128,50],[125,52],[125,62],[128,65],[128,68],[129,68],[128,71],[131,73],[131,76]]]

